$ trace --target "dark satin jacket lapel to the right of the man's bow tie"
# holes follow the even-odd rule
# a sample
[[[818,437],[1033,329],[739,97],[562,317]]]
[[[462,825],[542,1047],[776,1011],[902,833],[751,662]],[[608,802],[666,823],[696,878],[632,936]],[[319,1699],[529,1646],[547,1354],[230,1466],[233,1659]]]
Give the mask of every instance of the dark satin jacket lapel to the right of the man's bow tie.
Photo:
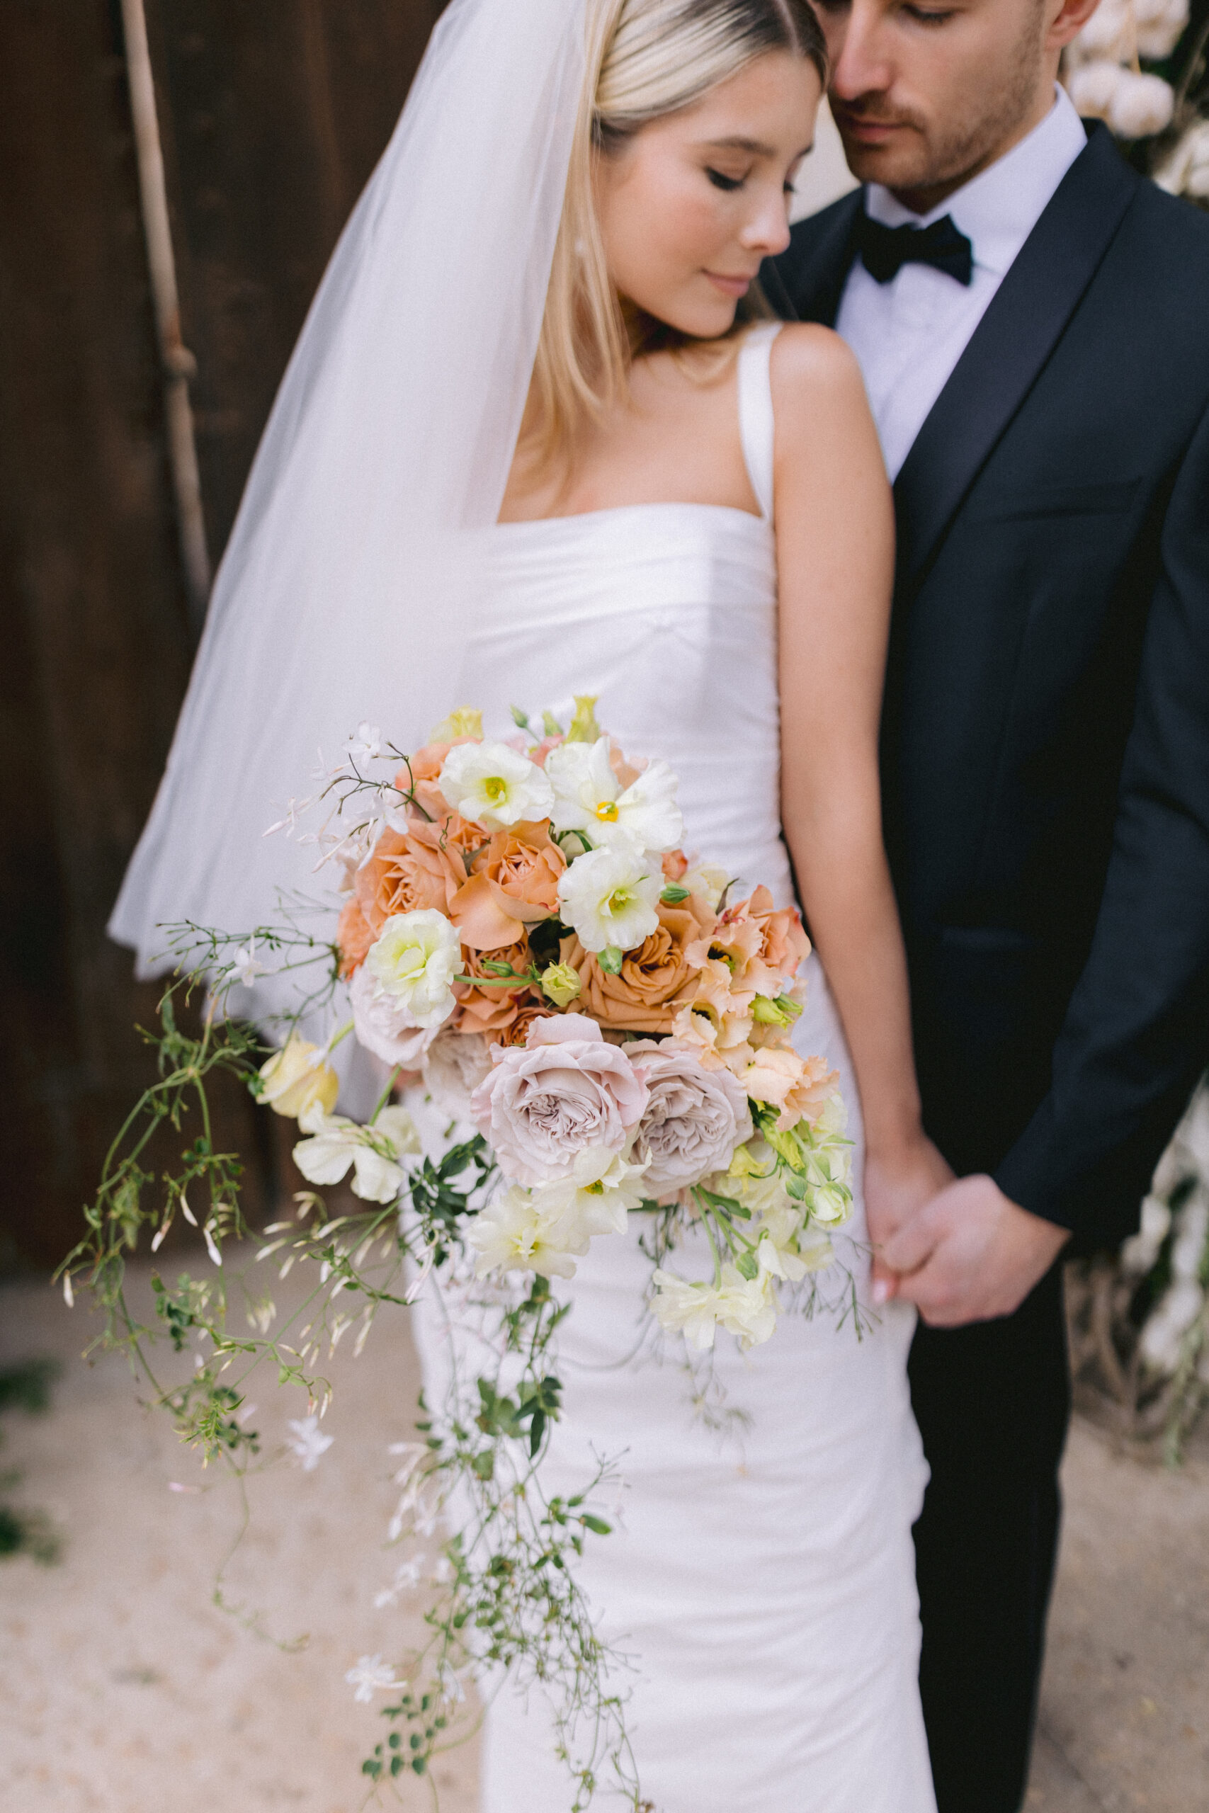
[[[962,499],[1033,388],[1138,190],[1095,125],[924,421],[894,486],[899,596],[921,580]]]

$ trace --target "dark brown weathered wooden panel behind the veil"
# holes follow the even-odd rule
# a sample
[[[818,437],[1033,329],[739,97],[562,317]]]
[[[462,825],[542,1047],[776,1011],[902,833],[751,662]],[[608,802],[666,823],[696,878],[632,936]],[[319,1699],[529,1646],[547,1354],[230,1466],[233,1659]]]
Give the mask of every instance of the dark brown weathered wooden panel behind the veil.
[[[149,0],[216,557],[437,11]],[[103,926],[190,647],[116,0],[4,0],[0,71],[4,1267],[62,1256],[147,1075],[154,990]],[[223,1104],[225,1140],[265,1133]]]

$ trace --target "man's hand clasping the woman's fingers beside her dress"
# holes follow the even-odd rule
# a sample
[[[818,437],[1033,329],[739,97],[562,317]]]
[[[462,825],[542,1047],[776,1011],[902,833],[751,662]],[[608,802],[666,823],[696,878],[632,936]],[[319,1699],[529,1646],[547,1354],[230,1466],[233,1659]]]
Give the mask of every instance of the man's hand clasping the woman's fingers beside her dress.
[[[935,1329],[1010,1316],[1069,1240],[1066,1227],[1030,1215],[990,1177],[959,1177],[912,1215],[883,1251],[894,1296]],[[877,1294],[877,1293],[875,1293]]]

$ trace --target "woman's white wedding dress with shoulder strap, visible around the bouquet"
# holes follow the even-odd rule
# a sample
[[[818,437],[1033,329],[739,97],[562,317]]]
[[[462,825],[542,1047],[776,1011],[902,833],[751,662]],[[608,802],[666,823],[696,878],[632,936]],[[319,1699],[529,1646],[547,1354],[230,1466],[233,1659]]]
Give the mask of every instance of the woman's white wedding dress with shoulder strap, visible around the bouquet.
[[[511,703],[566,716],[598,694],[633,756],[680,774],[685,847],[792,899],[778,814],[778,636],[769,352],[738,361],[743,451],[763,515],[638,504],[491,531],[484,607],[459,700],[488,725]],[[843,1077],[856,1178],[852,1068],[817,963],[796,1042]],[[642,1217],[633,1217],[634,1224]],[[740,1354],[718,1336],[716,1376],[750,1421],[694,1420],[669,1343],[642,1329],[649,1262],[638,1226],[578,1264],[558,1343],[564,1418],[547,1488],[575,1490],[616,1456],[620,1527],[589,1537],[580,1579],[602,1634],[633,1657],[627,1728],[658,1813],[933,1813],[915,1686],[919,1621],[910,1527],[926,1478],[906,1389],[914,1314],[890,1305],[863,1340],[834,1316],[783,1314]],[[863,1209],[837,1247],[868,1302]],[[705,1276],[680,1249],[672,1269]],[[444,1320],[421,1300],[417,1338],[439,1391]],[[504,1686],[486,1717],[482,1813],[567,1813],[540,1693]],[[602,1804],[616,1804],[600,1793]]]

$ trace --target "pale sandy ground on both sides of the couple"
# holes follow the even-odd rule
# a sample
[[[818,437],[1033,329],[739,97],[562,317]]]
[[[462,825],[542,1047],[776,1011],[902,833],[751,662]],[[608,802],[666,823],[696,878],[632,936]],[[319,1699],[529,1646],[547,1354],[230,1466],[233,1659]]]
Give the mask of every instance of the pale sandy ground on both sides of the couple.
[[[252,1481],[230,1559],[234,1487],[140,1405],[123,1360],[80,1362],[87,1338],[87,1313],[45,1285],[0,1289],[0,1363],[63,1363],[49,1416],[5,1418],[0,1467],[20,1469],[16,1496],[65,1537],[56,1566],[0,1568],[0,1808],[353,1813],[382,1721],[344,1672],[415,1634],[406,1606],[373,1606],[399,1559],[384,1550],[386,1445],[411,1432],[404,1323],[382,1325],[359,1362],[341,1351],[332,1450],[314,1472],[286,1461]],[[357,1389],[341,1389],[353,1365]],[[270,1383],[254,1396],[265,1450],[281,1454],[305,1405]],[[1066,1490],[1030,1809],[1209,1808],[1209,1463],[1146,1469],[1077,1425]],[[223,1565],[234,1612],[214,1605]],[[435,1786],[442,1813],[471,1813],[473,1742],[440,1760]],[[413,1782],[402,1804],[431,1808],[431,1789]]]

